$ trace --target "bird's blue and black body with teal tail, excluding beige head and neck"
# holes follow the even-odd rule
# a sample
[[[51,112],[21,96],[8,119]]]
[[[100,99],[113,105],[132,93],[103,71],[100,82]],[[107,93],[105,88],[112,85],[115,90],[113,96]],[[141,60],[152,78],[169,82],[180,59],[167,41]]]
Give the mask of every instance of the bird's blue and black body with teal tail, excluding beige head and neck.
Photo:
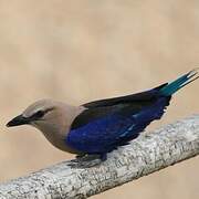
[[[86,109],[74,119],[65,142],[82,153],[112,151],[159,119],[171,95],[198,77],[198,70],[192,70],[146,92],[84,104]]]

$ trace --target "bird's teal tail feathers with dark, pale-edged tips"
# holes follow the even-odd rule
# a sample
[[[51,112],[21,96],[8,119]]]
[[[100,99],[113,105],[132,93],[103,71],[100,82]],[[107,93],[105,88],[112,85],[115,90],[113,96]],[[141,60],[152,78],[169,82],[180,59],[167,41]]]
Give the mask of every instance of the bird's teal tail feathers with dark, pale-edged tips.
[[[188,72],[187,74],[180,76],[174,82],[168,83],[159,92],[161,95],[170,96],[174,93],[176,93],[178,90],[182,88],[184,86],[193,82],[197,78],[199,78],[199,67]]]

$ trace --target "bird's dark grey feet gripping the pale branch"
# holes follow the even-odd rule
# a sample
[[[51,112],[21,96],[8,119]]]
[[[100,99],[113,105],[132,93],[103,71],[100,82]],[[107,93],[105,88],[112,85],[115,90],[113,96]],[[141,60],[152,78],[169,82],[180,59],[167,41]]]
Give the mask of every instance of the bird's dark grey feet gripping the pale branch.
[[[84,155],[81,157],[80,156],[76,157],[76,159],[74,160],[71,160],[72,164],[70,164],[70,166],[72,168],[90,168],[90,167],[98,166],[104,160],[106,160],[106,156]]]

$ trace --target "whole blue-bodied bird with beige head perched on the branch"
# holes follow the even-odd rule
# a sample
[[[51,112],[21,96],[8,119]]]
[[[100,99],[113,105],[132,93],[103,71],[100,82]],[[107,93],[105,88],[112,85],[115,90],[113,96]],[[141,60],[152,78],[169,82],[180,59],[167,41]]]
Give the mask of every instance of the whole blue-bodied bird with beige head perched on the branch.
[[[40,100],[11,119],[7,126],[31,125],[56,148],[76,157],[107,154],[136,139],[155,119],[160,119],[172,95],[199,77],[199,69],[154,88],[97,100],[80,106]]]

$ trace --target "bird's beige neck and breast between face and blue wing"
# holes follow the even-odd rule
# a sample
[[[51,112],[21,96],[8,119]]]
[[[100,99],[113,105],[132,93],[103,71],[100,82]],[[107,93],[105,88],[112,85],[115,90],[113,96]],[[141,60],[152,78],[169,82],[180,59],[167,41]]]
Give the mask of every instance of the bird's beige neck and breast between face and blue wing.
[[[33,126],[40,129],[53,146],[64,151],[78,154],[66,145],[66,136],[72,122],[83,109],[85,108],[81,106],[59,104],[44,119],[36,122]]]

